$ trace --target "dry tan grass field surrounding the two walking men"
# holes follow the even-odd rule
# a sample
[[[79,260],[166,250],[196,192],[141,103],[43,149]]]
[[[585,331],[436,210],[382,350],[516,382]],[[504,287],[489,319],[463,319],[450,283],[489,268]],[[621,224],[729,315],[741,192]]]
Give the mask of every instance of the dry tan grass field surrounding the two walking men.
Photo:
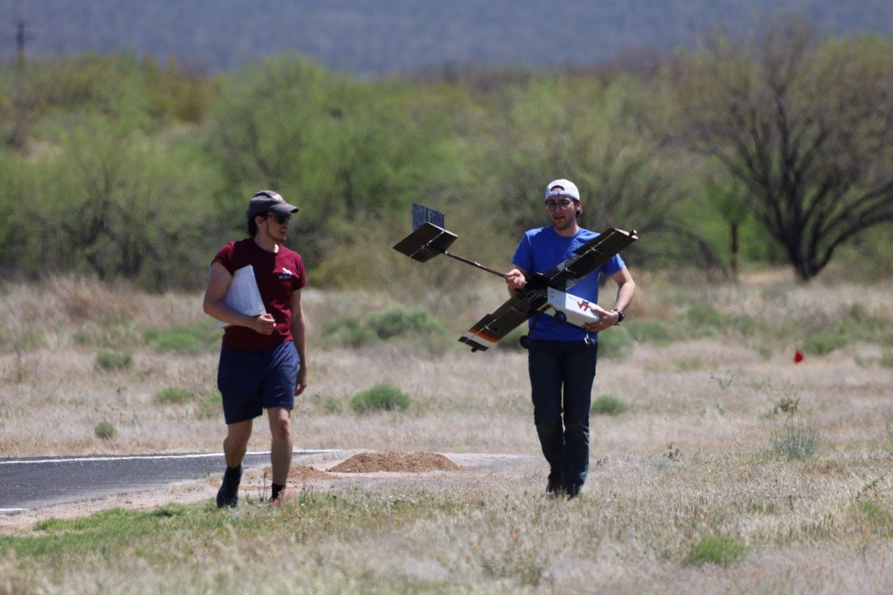
[[[638,281],[639,306],[630,309],[638,317],[672,321],[686,304],[701,302],[766,324],[831,321],[857,296],[865,312],[893,321],[889,284],[680,288]],[[220,416],[197,403],[152,398],[166,387],[213,390],[214,349],[168,353],[138,339],[146,328],[201,321],[200,298],[87,291],[81,283],[0,292],[0,452],[218,451]],[[451,308],[458,313],[453,324],[470,323],[492,309],[498,289],[438,308],[445,317]],[[387,293],[315,291],[305,299],[313,367],[293,415],[296,447],[526,457],[455,481],[332,482],[318,489],[351,502],[399,496],[426,504],[413,514],[371,515],[364,524],[332,513],[331,532],[311,531],[303,541],[295,527],[303,526],[306,507],[248,507],[248,516],[284,515],[271,517],[282,529],[263,541],[237,532],[199,540],[194,556],[213,560],[206,566],[179,557],[146,563],[131,552],[115,564],[96,556],[29,569],[7,557],[0,575],[13,578],[0,582],[0,591],[61,584],[71,591],[893,591],[893,370],[878,363],[876,345],[855,343],[799,365],[792,361],[796,342],[784,337],[766,346],[768,355],[746,340],[692,339],[637,344],[625,360],[601,359],[594,394],[617,395],[630,410],[593,417],[590,481],[580,499],[556,502],[540,493],[546,469],[530,415],[526,354],[432,355],[389,344],[322,351],[314,346],[325,320],[391,300]],[[73,339],[91,324],[96,337],[121,327],[114,332],[133,349],[131,370],[96,371],[97,347]],[[411,396],[407,411],[350,413],[356,391],[382,382]],[[340,401],[343,413],[327,413],[327,399]],[[793,415],[815,423],[821,443],[813,457],[773,456],[772,432],[789,415],[778,409],[784,399],[799,399]],[[112,440],[94,435],[103,419],[118,431]],[[264,426],[257,424],[249,448],[267,447]],[[743,541],[747,553],[729,566],[687,562],[693,544],[712,535]],[[176,550],[194,537],[171,538],[164,547]]]

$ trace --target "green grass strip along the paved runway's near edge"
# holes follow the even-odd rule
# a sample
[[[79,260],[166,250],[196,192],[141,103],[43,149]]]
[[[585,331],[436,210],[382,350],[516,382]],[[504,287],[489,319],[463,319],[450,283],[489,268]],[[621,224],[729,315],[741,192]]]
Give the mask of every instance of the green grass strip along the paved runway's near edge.
[[[418,495],[410,499],[367,492],[341,497],[305,492],[282,508],[269,507],[257,499],[240,499],[233,514],[222,513],[210,500],[188,506],[169,504],[148,512],[113,508],[74,519],[40,521],[32,532],[0,537],[0,551],[14,551],[22,564],[43,559],[45,563],[55,560],[77,565],[80,558],[95,554],[111,561],[136,555],[150,564],[189,564],[196,550],[233,539],[247,547],[256,543],[259,535],[323,538],[333,519],[338,519],[339,531],[343,529],[346,534],[351,527],[379,525],[384,519],[400,524],[401,515],[411,516],[437,498],[445,497]],[[438,502],[434,506],[439,506]],[[183,538],[181,542],[188,544],[187,548],[168,547],[177,536]]]

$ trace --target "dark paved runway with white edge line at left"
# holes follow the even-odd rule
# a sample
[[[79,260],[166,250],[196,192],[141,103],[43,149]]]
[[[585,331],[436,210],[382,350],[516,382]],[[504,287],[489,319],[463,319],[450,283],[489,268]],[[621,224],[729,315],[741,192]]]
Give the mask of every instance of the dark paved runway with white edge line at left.
[[[296,450],[295,459],[325,450]],[[270,451],[249,452],[243,465],[269,465]],[[221,453],[121,457],[0,458],[0,514],[155,490],[220,474]]]

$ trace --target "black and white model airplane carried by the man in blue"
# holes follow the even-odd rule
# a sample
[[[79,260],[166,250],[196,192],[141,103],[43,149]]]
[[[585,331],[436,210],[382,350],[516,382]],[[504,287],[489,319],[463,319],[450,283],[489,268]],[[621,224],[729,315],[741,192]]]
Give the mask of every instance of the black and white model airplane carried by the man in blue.
[[[444,229],[443,214],[422,205],[413,205],[413,233],[400,240],[394,249],[421,263],[441,254],[446,255],[505,279],[505,272],[447,252],[447,247],[457,238],[455,233]],[[555,313],[555,319],[562,323],[582,326],[597,322],[598,314],[589,301],[567,290],[637,239],[635,230],[606,230],[574,250],[575,256],[551,271],[531,275],[523,289],[508,298],[496,312],[481,318],[459,340],[471,346],[472,351],[483,351],[496,345],[499,339],[531,316],[536,316],[532,323],[536,324],[539,315],[550,309]],[[530,345],[527,335],[522,336],[521,345],[525,349]]]

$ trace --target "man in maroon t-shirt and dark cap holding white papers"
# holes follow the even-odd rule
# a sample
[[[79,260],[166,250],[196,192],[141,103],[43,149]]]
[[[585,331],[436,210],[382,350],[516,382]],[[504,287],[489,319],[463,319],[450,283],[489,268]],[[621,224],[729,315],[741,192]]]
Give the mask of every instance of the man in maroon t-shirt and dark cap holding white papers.
[[[283,245],[291,214],[276,192],[261,190],[248,201],[248,238],[230,242],[214,256],[204,312],[228,323],[223,331],[217,387],[223,399],[227,469],[217,507],[238,504],[242,459],[255,417],[267,410],[272,434],[271,501],[280,502],[291,466],[291,410],[307,386],[306,322],[301,289],[307,284],[301,255]],[[251,265],[265,314],[240,314],[226,305],[233,274]]]

